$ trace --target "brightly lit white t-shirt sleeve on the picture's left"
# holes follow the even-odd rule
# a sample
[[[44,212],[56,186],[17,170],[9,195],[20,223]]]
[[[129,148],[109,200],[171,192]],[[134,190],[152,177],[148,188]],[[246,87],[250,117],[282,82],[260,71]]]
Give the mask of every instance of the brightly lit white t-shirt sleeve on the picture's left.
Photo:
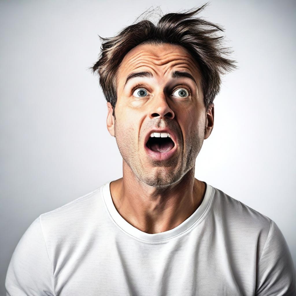
[[[52,287],[52,264],[38,217],[12,254],[5,280],[6,295],[54,296]]]

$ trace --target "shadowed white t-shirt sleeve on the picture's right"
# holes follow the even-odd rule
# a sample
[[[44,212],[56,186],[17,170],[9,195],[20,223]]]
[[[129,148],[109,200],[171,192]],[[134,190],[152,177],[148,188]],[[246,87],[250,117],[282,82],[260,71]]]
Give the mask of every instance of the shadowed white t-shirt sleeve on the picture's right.
[[[258,296],[295,296],[295,268],[287,242],[274,221],[257,267]]]

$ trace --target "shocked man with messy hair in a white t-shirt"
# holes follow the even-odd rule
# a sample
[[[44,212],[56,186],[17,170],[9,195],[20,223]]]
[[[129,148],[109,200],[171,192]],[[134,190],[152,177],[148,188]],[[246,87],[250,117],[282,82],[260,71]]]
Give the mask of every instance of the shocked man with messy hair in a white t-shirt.
[[[235,68],[222,29],[193,17],[204,7],[103,39],[92,70],[123,177],[31,224],[7,295],[295,295],[276,223],[194,178],[220,75]]]

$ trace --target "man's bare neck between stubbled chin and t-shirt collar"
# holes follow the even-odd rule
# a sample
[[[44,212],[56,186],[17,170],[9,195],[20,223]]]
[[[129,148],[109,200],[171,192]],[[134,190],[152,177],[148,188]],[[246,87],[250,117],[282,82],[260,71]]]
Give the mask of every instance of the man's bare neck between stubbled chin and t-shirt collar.
[[[123,178],[110,183],[118,213],[146,233],[168,231],[189,218],[202,203],[205,183],[194,178],[194,167],[166,187],[149,186],[123,160]]]

